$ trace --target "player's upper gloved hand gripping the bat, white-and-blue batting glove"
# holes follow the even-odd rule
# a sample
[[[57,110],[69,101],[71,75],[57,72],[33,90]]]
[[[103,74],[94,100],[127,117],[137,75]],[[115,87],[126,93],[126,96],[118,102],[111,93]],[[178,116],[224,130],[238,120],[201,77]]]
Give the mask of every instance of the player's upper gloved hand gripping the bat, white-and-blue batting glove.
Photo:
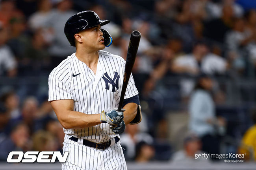
[[[110,125],[120,124],[122,122],[122,119],[124,118],[124,111],[125,109],[122,109],[121,112],[118,112],[117,108],[110,110],[107,113],[102,111],[100,115],[100,121],[102,123],[108,123]]]

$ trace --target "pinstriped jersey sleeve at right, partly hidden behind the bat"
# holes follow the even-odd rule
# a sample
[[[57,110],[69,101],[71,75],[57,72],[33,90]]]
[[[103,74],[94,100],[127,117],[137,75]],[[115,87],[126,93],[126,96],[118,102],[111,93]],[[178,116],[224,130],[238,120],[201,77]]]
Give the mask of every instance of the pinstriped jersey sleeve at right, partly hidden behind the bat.
[[[122,61],[122,73],[124,74],[124,68],[125,68],[125,60]],[[124,99],[128,99],[131,97],[134,97],[135,95],[139,94],[136,86],[135,86],[135,82],[134,82],[134,77],[132,76],[132,73],[130,75],[130,79],[126,88],[126,92],[124,95]]]

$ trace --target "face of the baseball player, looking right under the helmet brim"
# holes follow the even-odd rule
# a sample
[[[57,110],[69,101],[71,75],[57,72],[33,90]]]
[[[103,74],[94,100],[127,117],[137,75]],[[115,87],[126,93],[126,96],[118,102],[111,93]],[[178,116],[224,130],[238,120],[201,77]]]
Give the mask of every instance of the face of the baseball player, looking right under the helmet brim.
[[[83,48],[90,49],[92,51],[98,51],[105,48],[103,33],[100,31],[100,25],[91,27],[82,31],[82,46]]]

